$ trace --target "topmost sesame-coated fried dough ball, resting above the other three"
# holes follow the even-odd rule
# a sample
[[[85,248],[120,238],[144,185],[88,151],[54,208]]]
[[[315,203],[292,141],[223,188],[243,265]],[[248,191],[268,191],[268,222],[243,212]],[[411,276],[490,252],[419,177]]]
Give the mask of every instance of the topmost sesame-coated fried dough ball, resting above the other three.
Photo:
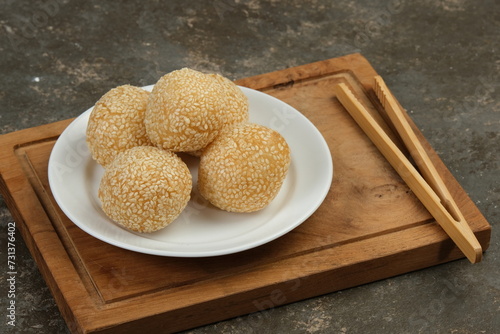
[[[203,149],[226,124],[248,119],[248,101],[235,88],[240,91],[217,75],[188,68],[164,75],[148,102],[145,125],[149,138],[158,147],[175,152]]]

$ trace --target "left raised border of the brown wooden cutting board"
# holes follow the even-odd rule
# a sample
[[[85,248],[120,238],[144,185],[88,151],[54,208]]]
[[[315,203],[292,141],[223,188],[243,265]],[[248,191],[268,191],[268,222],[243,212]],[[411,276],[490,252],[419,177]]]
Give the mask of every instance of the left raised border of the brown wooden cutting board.
[[[85,327],[82,319],[86,319],[81,315],[91,309],[90,295],[16,156],[16,150],[23,145],[45,136],[52,140],[70,121],[57,122],[56,128],[48,124],[0,136],[0,193],[68,328],[80,333]],[[33,129],[35,133],[30,131]],[[72,282],[72,288],[61,289],[59,282]],[[79,303],[72,304],[72,300]]]

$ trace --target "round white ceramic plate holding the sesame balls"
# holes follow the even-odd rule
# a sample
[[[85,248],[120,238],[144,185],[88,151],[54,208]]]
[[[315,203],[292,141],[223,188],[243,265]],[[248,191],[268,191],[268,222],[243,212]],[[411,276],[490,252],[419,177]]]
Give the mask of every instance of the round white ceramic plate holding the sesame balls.
[[[144,87],[151,91],[152,86]],[[330,150],[321,133],[296,109],[267,94],[241,87],[250,102],[250,121],[280,132],[291,150],[283,186],[266,208],[229,213],[209,205],[193,186],[191,200],[166,228],[131,232],[110,220],[97,197],[103,168],[85,142],[89,109],[57,140],[49,159],[49,183],[68,218],[90,235],[136,252],[176,257],[231,254],[260,246],[304,222],[323,202],[333,176]],[[196,185],[198,159],[182,156]]]

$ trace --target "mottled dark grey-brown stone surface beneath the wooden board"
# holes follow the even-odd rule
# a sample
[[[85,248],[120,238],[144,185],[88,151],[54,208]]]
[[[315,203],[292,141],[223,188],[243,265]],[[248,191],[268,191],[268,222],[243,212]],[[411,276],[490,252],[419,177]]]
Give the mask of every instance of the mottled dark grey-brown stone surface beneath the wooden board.
[[[500,332],[500,2],[0,1],[0,134],[75,117],[107,90],[181,67],[243,78],[361,52],[493,227],[467,260],[188,333]],[[66,333],[19,234],[8,314],[0,197],[0,333]]]

